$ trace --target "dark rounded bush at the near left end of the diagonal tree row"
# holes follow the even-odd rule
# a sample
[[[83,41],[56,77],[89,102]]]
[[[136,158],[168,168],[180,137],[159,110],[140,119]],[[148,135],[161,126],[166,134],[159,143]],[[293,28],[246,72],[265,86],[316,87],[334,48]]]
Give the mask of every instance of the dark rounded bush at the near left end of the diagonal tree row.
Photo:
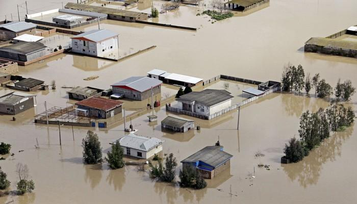
[[[301,142],[293,137],[289,140],[289,144],[285,144],[284,153],[286,159],[296,163],[307,156],[308,151],[305,151]]]

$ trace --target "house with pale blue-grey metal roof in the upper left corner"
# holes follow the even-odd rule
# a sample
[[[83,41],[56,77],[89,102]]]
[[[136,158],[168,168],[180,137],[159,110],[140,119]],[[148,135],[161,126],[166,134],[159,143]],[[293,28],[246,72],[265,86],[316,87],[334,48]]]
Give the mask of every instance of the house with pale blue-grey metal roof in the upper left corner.
[[[0,24],[0,40],[11,40],[22,34],[35,34],[36,27],[36,24],[25,21]]]

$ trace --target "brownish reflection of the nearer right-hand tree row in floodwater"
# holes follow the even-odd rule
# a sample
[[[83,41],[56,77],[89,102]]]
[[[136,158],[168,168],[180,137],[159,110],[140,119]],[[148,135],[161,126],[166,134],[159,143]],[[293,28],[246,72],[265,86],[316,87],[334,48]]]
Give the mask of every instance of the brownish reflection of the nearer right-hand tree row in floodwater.
[[[283,170],[291,181],[299,182],[300,186],[306,188],[317,184],[322,169],[322,164],[335,161],[340,157],[342,144],[351,136],[353,126],[345,131],[332,133],[321,145],[310,151],[309,156],[302,161],[293,164],[282,164]]]

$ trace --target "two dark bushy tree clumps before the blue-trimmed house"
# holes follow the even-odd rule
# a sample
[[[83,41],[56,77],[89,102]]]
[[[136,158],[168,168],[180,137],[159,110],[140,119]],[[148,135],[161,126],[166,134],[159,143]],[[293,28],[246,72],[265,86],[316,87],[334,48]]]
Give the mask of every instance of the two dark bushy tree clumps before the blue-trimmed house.
[[[160,158],[156,165],[150,162],[149,166],[150,166],[150,177],[152,179],[156,179],[158,181],[167,182],[167,183],[175,182],[175,177],[176,177],[175,169],[177,166],[177,162],[176,162],[176,158],[173,157],[172,153],[168,157],[166,157],[165,165],[163,165],[162,159]],[[179,184],[181,187],[184,188],[188,187],[194,189],[202,189],[202,188],[206,188],[207,186],[206,181],[203,179],[200,173],[197,172],[196,169],[191,165],[184,166],[183,169],[180,170],[179,178],[180,178]]]

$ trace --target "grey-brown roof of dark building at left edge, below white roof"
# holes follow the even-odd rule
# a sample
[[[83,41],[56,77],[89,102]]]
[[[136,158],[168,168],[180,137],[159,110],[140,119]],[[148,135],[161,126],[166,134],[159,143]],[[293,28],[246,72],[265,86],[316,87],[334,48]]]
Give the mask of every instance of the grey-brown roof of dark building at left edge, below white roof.
[[[40,42],[18,42],[16,44],[0,47],[1,51],[29,55],[45,49],[46,46]]]

